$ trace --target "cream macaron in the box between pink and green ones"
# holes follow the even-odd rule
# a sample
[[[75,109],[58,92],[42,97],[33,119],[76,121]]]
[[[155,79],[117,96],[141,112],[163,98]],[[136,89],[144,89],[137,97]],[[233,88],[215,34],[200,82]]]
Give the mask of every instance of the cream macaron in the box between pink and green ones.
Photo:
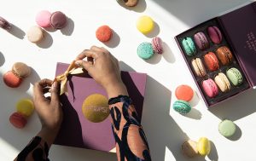
[[[215,83],[217,83],[218,88],[222,92],[227,92],[231,89],[231,84],[229,79],[222,72],[218,73],[218,75],[214,78],[214,81]]]

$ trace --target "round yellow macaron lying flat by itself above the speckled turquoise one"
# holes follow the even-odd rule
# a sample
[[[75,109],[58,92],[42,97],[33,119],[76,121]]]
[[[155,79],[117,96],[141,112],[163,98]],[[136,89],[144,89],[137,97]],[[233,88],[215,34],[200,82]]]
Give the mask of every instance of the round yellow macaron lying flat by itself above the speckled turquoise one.
[[[154,20],[148,15],[143,15],[137,20],[137,30],[143,34],[148,34],[154,29]]]

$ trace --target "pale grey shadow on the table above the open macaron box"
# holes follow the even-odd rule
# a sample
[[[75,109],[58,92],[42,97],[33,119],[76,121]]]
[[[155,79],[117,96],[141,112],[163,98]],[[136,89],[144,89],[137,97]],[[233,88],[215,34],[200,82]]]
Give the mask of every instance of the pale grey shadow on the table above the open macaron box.
[[[153,0],[188,26],[195,26],[251,0]]]

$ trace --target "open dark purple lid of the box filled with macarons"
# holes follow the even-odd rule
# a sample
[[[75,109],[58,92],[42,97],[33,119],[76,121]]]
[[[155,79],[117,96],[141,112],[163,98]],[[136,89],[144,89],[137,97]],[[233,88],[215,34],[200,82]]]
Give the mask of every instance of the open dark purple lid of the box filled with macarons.
[[[256,85],[256,2],[221,15],[218,20],[224,27],[226,37],[236,52],[248,81],[254,87]]]

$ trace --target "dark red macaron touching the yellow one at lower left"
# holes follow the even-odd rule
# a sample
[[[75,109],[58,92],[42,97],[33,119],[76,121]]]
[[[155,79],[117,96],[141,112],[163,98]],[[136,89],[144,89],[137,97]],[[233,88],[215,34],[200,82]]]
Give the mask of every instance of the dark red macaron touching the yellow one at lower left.
[[[26,118],[19,112],[14,112],[9,117],[9,122],[15,126],[15,128],[22,129],[26,126]]]

